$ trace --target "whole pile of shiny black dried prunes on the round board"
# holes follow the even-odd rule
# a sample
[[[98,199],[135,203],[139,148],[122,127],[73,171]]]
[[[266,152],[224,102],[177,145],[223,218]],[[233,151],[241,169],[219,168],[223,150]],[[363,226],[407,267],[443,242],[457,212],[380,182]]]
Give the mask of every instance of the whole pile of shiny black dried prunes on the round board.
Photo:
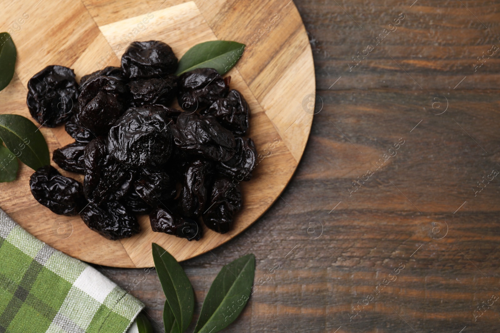
[[[121,67],[85,75],[47,66],[27,84],[27,105],[40,124],[65,124],[74,142],[53,152],[63,170],[47,165],[30,178],[31,193],[56,214],[79,214],[102,236],[139,233],[137,214],[151,229],[188,240],[200,222],[230,230],[241,208],[239,181],[250,180],[256,150],[249,107],[213,68],[180,76],[177,58],[161,41],[132,42]],[[182,110],[170,107],[174,98]]]

